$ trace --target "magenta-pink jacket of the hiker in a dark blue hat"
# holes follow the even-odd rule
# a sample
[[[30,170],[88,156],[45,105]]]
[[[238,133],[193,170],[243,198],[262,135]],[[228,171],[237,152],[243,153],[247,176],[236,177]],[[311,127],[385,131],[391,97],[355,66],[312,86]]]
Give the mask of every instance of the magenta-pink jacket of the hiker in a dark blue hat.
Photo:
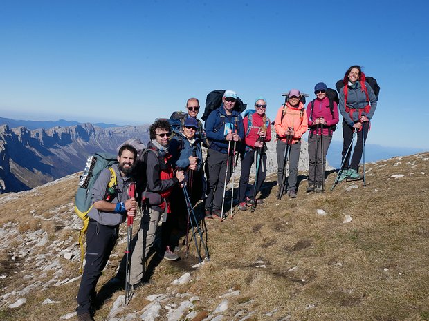
[[[334,126],[338,124],[338,106],[335,101],[334,103],[334,116],[331,114],[331,109],[329,108],[329,99],[325,97],[322,100],[314,99],[313,113],[311,113],[311,101],[307,105],[307,119],[309,119],[309,130],[310,133],[316,133],[316,125],[313,125],[314,119],[318,117],[325,118],[326,125],[323,126],[323,135],[329,135],[329,129],[327,127]],[[319,133],[320,134],[320,133]]]

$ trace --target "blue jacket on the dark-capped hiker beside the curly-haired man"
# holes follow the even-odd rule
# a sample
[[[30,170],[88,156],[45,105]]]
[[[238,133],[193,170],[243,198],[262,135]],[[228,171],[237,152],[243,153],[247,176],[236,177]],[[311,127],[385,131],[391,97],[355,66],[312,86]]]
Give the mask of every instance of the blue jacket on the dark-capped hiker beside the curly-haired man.
[[[190,144],[188,138],[183,133],[178,133],[172,137],[170,146],[168,147],[170,154],[172,155],[173,163],[175,167],[188,168],[189,157],[192,156],[192,152],[195,151],[196,157],[199,159],[197,165],[197,171],[201,169],[201,163],[203,162],[203,153],[201,151],[201,140],[197,135],[195,136],[194,144]]]

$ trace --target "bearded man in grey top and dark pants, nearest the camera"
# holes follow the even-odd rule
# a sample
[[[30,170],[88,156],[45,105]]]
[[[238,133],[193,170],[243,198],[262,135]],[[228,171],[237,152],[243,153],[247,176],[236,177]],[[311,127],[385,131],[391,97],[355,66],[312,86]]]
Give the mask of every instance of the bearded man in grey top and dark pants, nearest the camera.
[[[119,149],[119,164],[111,166],[116,173],[117,186],[113,199],[106,200],[107,186],[111,179],[109,168],[104,168],[91,190],[93,207],[89,211],[89,225],[86,232],[86,263],[77,293],[77,319],[92,321],[91,300],[95,298],[95,286],[101,271],[107,264],[113,246],[118,239],[119,224],[127,215],[136,215],[136,200],[129,197],[128,187],[137,151],[124,145]]]

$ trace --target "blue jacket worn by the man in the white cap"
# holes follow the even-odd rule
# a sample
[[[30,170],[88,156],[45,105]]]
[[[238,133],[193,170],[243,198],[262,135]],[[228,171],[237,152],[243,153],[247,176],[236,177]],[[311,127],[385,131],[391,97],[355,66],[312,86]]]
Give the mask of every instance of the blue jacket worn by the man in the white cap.
[[[242,140],[244,138],[244,127],[243,117],[241,117],[240,113],[232,110],[231,115],[226,115],[223,104],[216,110],[213,110],[210,115],[208,115],[205,124],[210,148],[223,154],[228,153],[226,135],[229,133],[229,128],[235,128],[235,124],[237,124],[237,134],[240,140]]]

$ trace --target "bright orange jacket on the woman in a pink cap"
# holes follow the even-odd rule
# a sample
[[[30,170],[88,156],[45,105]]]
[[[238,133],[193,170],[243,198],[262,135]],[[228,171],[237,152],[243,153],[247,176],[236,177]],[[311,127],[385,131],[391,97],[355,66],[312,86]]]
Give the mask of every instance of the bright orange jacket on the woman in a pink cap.
[[[279,139],[282,139],[283,142],[286,142],[285,135],[286,130],[289,127],[295,131],[295,135],[293,135],[293,143],[299,142],[301,136],[309,128],[307,113],[304,113],[304,104],[302,104],[302,102],[300,102],[298,108],[292,107],[288,102],[286,106],[282,105],[277,111],[274,128],[275,132],[279,136]]]

